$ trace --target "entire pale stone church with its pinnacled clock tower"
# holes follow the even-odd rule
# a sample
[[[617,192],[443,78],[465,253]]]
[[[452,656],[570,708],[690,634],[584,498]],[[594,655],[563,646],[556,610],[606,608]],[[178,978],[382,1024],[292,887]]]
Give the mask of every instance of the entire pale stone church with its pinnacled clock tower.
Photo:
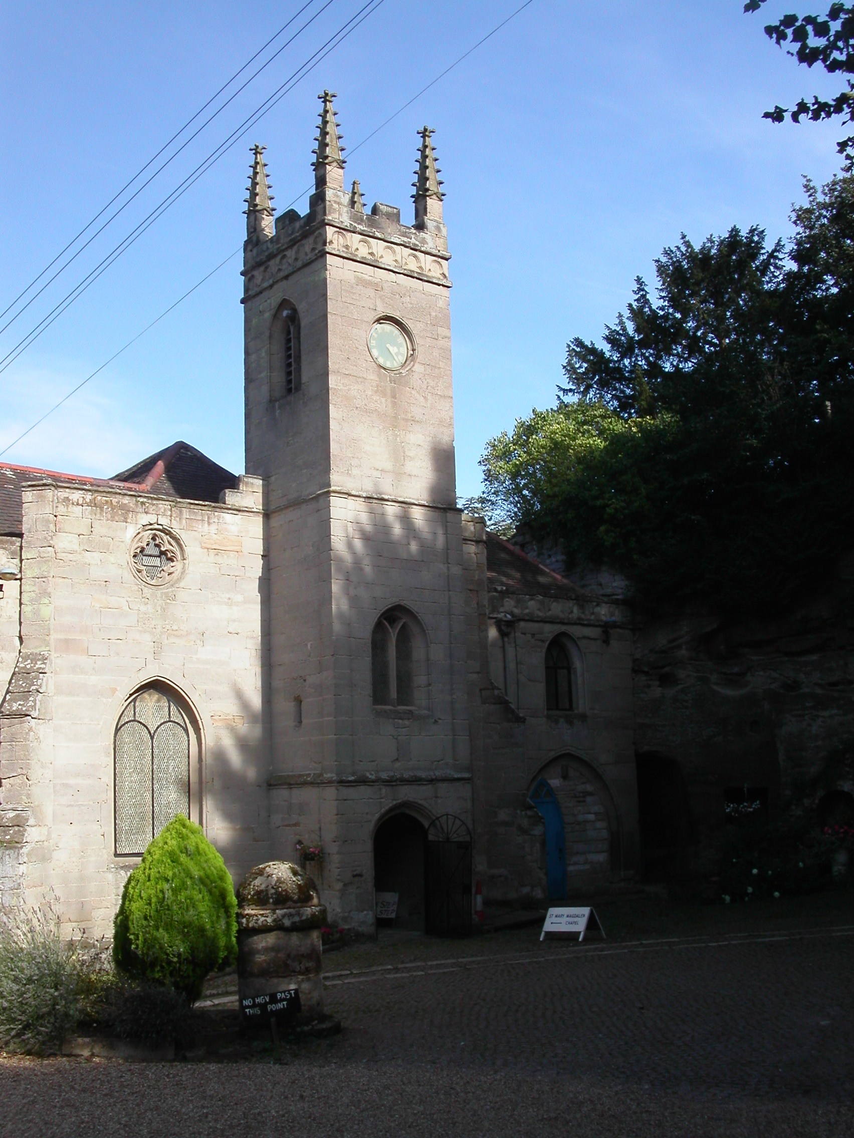
[[[330,922],[364,930],[375,835],[401,814],[383,881],[400,869],[412,920],[418,851],[444,815],[471,831],[487,905],[542,902],[541,777],[565,814],[567,888],[638,871],[629,612],[457,506],[433,132],[408,225],[345,188],[321,100],[306,214],[274,218],[253,148],[247,472],[182,442],[106,480],[0,467],[16,570],[0,601],[0,891],[52,889],[89,935],[112,931],[138,861],[117,852],[118,814],[145,836],[184,810],[236,881],[311,849]],[[573,706],[549,704],[556,637]],[[146,691],[166,699],[131,715]]]

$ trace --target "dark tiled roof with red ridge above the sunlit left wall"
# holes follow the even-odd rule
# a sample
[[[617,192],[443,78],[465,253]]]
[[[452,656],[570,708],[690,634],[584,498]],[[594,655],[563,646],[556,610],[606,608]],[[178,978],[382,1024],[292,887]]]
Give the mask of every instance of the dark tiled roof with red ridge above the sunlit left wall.
[[[123,470],[115,478],[89,478],[87,475],[66,475],[58,470],[5,463],[0,464],[0,536],[20,536],[22,489],[27,483],[42,478],[79,486],[150,490],[194,502],[219,502],[222,490],[237,486],[237,475],[217,465],[195,446],[180,442]]]

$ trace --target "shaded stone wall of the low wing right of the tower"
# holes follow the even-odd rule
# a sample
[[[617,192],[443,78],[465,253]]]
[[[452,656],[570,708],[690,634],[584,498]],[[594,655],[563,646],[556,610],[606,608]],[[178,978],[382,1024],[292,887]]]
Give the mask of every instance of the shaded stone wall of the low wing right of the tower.
[[[639,847],[627,613],[596,597],[490,593],[483,542],[483,522],[467,519],[477,872],[485,898],[545,897],[543,828],[527,801],[540,777],[564,811],[568,888],[631,880]],[[558,634],[573,636],[581,653],[581,700],[572,712],[545,709],[545,649]]]

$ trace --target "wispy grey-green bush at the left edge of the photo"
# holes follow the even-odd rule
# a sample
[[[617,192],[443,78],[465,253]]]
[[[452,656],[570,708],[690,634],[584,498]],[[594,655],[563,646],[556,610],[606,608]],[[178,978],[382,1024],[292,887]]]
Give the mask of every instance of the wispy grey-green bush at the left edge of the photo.
[[[0,913],[0,1046],[48,1055],[76,1024],[80,958],[54,905]]]

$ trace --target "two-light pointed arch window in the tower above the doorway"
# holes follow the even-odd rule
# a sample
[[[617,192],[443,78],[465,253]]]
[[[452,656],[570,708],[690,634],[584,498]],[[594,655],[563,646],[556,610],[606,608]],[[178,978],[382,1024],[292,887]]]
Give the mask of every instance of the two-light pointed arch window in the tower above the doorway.
[[[389,609],[373,626],[371,681],[375,707],[426,707],[427,637],[407,609]]]

